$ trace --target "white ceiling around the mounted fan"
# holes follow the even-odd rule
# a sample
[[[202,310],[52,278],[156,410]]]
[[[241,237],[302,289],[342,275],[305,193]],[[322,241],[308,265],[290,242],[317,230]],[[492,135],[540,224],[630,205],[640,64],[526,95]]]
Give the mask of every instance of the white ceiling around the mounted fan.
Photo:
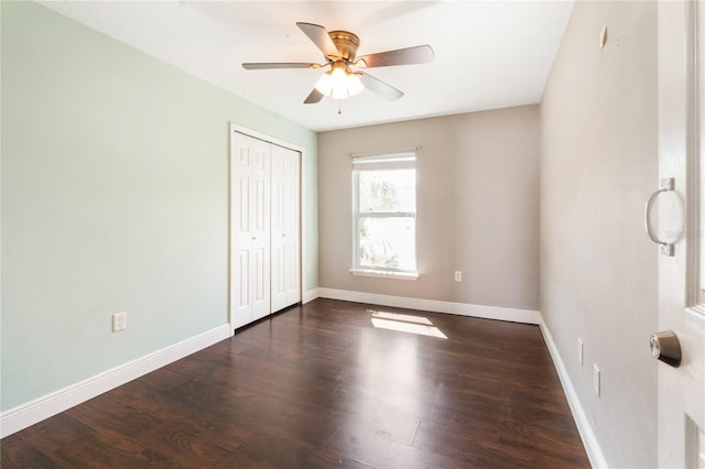
[[[315,131],[541,101],[572,1],[43,1],[46,7]],[[304,105],[323,62],[303,21],[360,37],[358,55],[430,44],[432,64],[368,69],[404,91]]]

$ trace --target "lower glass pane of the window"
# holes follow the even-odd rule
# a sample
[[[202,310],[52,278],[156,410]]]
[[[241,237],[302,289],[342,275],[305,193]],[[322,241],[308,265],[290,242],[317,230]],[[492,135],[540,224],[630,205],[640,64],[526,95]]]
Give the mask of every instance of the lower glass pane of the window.
[[[414,217],[360,217],[358,234],[359,266],[416,270]]]

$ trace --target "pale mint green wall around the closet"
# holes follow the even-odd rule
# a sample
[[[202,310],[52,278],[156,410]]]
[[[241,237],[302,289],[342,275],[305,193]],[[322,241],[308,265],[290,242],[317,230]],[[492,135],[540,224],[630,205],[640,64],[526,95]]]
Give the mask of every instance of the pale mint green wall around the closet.
[[[305,149],[317,286],[315,132],[42,6],[0,8],[2,410],[228,321],[230,121]]]

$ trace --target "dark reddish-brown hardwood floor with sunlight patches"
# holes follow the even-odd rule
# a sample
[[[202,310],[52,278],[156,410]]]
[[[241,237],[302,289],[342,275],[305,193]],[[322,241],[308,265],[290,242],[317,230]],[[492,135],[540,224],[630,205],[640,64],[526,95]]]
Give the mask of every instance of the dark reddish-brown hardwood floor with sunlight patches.
[[[330,299],[0,445],[3,469],[589,467],[539,327]]]

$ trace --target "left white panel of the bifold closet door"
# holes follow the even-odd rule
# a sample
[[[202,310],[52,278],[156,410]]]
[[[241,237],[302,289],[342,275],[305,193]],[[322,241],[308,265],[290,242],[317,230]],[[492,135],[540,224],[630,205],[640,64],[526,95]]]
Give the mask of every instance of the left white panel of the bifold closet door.
[[[234,329],[270,314],[271,146],[234,132],[230,149]]]

